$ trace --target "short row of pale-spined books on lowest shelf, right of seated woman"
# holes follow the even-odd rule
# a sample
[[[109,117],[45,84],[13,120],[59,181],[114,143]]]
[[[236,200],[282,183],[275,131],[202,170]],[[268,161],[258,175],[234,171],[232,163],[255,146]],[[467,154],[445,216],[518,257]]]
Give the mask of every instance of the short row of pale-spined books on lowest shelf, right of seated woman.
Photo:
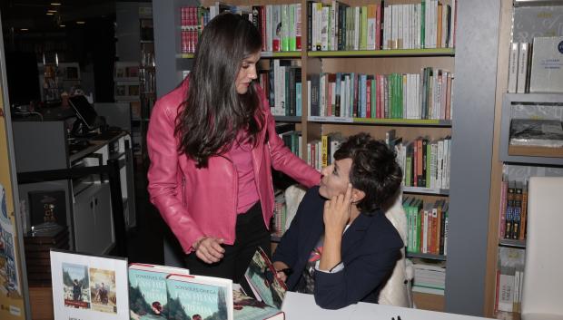
[[[430,264],[413,262],[414,277],[412,291],[444,296],[446,288],[446,267],[443,262]]]

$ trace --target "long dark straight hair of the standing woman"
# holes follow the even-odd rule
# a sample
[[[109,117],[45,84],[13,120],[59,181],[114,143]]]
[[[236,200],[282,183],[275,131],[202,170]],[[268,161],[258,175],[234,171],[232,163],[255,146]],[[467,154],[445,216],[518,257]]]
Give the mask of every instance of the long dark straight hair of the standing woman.
[[[203,29],[174,132],[180,138],[178,151],[198,168],[226,151],[242,129],[256,143],[263,125],[262,113],[256,112],[260,97],[253,83],[245,94],[237,93],[235,80],[242,60],[261,48],[258,29],[241,15],[217,15]]]

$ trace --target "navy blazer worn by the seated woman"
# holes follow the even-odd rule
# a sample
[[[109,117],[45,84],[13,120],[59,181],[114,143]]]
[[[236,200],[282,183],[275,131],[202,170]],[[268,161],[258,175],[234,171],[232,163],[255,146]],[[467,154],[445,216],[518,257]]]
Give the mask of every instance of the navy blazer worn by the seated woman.
[[[293,290],[300,281],[311,250],[324,233],[324,201],[319,187],[307,191],[272,256],[293,269],[286,284]],[[380,289],[390,277],[404,247],[397,229],[378,210],[354,219],[342,237],[344,268],[336,273],[315,272],[314,296],[317,305],[338,309],[359,301],[377,303]]]

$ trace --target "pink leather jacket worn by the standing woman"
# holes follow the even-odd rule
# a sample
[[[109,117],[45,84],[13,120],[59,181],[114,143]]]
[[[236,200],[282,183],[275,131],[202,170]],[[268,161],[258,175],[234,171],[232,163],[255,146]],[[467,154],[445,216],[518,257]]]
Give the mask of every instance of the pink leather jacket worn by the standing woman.
[[[174,123],[188,89],[187,81],[159,99],[153,108],[147,146],[151,166],[148,190],[151,202],[172,229],[187,254],[203,236],[235,240],[236,170],[228,155],[211,157],[207,168],[197,169],[195,161],[178,153]],[[262,89],[262,110],[266,125],[259,143],[252,149],[254,179],[262,204],[264,224],[269,228],[273,215],[272,167],[285,172],[306,187],[319,184],[321,174],[286,148],[275,132],[275,122]],[[268,142],[266,141],[268,134]]]

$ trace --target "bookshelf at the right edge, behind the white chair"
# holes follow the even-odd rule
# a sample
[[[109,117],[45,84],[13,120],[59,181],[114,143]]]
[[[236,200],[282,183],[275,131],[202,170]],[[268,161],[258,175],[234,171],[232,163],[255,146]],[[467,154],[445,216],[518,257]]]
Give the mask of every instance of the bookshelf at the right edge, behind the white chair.
[[[560,148],[509,145],[510,120],[513,118],[553,118],[560,114],[563,95],[555,92],[507,93],[509,91],[509,46],[512,42],[532,43],[533,36],[560,36],[563,6],[555,1],[500,1],[499,55],[495,105],[495,130],[491,158],[489,203],[489,240],[485,276],[485,315],[497,318],[519,318],[512,312],[497,310],[499,249],[525,249],[526,239],[503,238],[500,216],[503,205],[503,180],[524,182],[531,176],[562,176],[563,158]],[[553,23],[548,23],[553,21]],[[529,68],[528,64],[528,68]],[[560,115],[559,115],[560,117]],[[555,117],[556,119],[558,117]],[[510,187],[509,187],[510,188]],[[499,271],[499,273],[502,273]],[[504,274],[504,273],[503,273]],[[517,304],[519,305],[518,302]]]

